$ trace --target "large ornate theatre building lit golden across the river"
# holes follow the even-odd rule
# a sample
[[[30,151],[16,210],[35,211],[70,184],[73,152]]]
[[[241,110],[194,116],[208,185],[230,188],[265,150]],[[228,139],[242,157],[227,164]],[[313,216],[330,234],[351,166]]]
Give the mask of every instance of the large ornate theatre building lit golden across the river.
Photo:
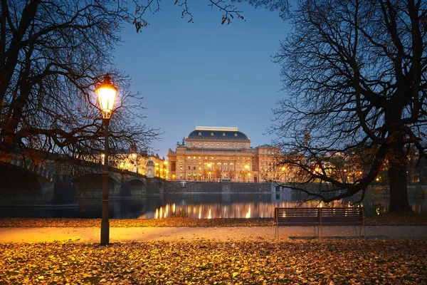
[[[264,182],[282,180],[285,172],[276,167],[280,148],[251,147],[238,128],[196,126],[167,156],[170,180]]]

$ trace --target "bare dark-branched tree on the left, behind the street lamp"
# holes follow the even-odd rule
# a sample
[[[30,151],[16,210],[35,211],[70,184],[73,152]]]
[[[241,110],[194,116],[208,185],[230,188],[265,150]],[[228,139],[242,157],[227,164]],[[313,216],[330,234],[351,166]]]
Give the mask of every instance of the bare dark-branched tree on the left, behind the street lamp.
[[[103,150],[94,89],[109,73],[120,89],[112,150],[147,147],[157,130],[141,123],[138,95],[112,62],[127,11],[115,1],[1,1],[0,157],[35,150]]]

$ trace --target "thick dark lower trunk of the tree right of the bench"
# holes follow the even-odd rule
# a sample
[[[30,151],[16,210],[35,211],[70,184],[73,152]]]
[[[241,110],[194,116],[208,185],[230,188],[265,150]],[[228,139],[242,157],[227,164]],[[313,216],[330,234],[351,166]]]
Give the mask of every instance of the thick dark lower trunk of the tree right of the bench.
[[[408,185],[406,174],[406,155],[404,151],[399,151],[399,158],[395,157],[390,161],[389,182],[390,182],[390,204],[389,212],[407,213],[413,212],[409,207]]]

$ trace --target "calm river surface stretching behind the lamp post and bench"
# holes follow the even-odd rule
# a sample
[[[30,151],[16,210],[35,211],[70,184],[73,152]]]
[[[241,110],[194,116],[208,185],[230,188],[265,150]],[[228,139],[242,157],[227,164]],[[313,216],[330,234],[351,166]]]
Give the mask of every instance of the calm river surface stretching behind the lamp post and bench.
[[[163,219],[184,214],[194,219],[214,218],[270,218],[275,207],[325,207],[324,203],[300,203],[292,192],[227,193],[227,194],[164,194],[138,196],[133,199],[110,199],[111,219]],[[357,199],[347,199],[344,205]],[[409,199],[414,212],[427,214],[426,199]],[[386,197],[366,198],[362,202],[368,215],[387,211]],[[342,207],[340,202],[328,206]],[[69,217],[100,218],[101,199],[80,199],[78,207],[0,207],[0,217]]]

